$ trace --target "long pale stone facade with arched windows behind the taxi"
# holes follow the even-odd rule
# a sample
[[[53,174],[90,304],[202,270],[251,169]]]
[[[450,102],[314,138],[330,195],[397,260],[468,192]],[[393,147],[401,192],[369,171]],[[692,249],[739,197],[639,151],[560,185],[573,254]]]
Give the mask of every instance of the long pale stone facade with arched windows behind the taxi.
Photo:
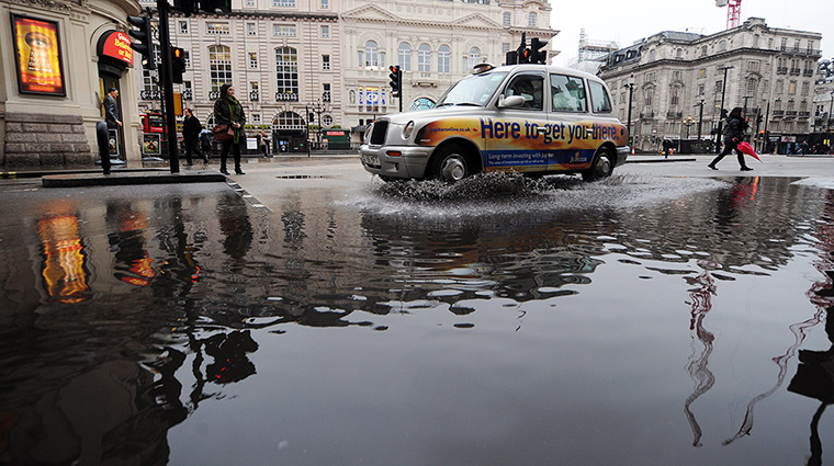
[[[377,115],[399,111],[390,65],[403,69],[403,110],[431,107],[474,64],[504,62],[522,33],[557,34],[543,0],[233,0],[232,9],[171,18],[171,43],[189,59],[174,92],[211,125],[217,90],[234,83],[248,124],[270,132],[279,152],[341,147],[340,134],[356,146]],[[154,71],[136,79],[140,111],[158,109]]]

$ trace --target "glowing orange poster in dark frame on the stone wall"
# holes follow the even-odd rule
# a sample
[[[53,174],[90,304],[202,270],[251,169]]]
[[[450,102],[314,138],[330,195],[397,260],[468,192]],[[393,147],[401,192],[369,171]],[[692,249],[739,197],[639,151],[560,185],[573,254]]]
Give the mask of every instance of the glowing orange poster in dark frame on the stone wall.
[[[21,93],[66,95],[58,23],[13,13],[11,18]]]

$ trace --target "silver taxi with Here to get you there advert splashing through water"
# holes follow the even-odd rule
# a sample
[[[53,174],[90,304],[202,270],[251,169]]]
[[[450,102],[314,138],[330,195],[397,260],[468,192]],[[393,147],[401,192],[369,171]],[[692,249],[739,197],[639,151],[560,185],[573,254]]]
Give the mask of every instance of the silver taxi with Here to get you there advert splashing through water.
[[[481,172],[609,177],[630,154],[626,126],[596,76],[545,65],[470,75],[435,109],[380,116],[359,150],[383,180],[460,181]]]

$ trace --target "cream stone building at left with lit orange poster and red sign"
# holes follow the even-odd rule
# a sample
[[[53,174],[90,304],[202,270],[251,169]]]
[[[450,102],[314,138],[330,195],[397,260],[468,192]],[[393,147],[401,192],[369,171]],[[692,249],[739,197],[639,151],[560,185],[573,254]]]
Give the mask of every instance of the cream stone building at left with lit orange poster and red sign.
[[[126,18],[134,0],[0,0],[0,162],[4,170],[92,166],[108,88],[124,126],[114,157],[138,159]]]

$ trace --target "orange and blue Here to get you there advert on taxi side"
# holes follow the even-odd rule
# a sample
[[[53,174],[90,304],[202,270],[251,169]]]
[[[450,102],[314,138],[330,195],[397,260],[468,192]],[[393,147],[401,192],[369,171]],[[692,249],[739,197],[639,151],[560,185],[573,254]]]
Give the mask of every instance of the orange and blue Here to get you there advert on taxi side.
[[[463,137],[477,145],[487,172],[526,171],[542,166],[562,170],[586,169],[602,143],[627,144],[626,128],[618,123],[489,116],[431,122],[420,128],[415,141],[420,146],[437,146],[450,137]]]

